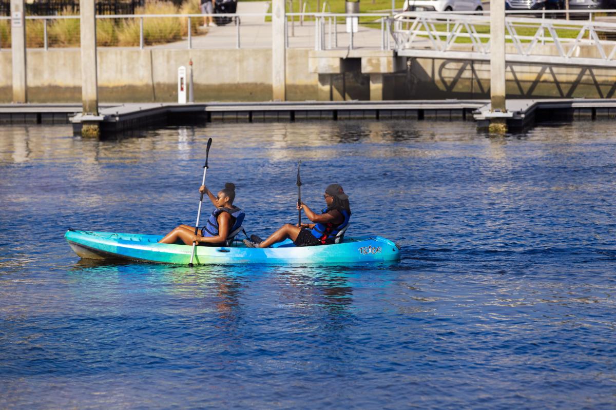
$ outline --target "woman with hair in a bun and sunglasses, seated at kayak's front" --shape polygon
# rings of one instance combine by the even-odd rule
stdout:
[[[241,227],[246,215],[240,208],[233,206],[233,199],[235,199],[234,183],[225,183],[225,187],[219,191],[217,196],[214,196],[205,185],[201,185],[199,192],[207,194],[209,200],[216,207],[209,216],[205,227],[201,228],[201,235],[195,235],[195,227],[180,225],[165,235],[158,243],[176,243],[179,239],[187,245],[197,242],[198,245],[219,246],[225,243],[230,233]]]

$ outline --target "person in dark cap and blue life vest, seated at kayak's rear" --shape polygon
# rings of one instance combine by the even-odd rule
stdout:
[[[308,219],[314,223],[302,223],[301,225],[285,223],[265,241],[253,242],[244,239],[244,243],[247,247],[268,247],[290,238],[296,246],[333,244],[336,234],[349,223],[351,217],[349,196],[344,193],[340,185],[332,183],[325,189],[323,198],[325,198],[327,207],[321,214],[315,214],[304,203],[298,204],[298,209],[303,209]]]

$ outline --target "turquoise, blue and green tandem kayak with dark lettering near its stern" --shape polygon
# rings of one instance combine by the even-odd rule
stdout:
[[[144,262],[188,265],[192,246],[158,243],[162,235],[139,235],[68,230],[64,235],[77,255],[84,259],[129,259]],[[267,248],[197,246],[193,263],[355,263],[400,260],[400,249],[381,236],[344,238],[341,243],[298,247],[290,239]]]

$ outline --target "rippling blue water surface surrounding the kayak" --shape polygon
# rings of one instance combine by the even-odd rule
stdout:
[[[614,409],[611,122],[170,127],[102,142],[0,129],[2,409]],[[171,267],[79,260],[69,227],[164,233],[235,182],[249,233],[331,182],[347,235],[402,261]],[[209,207],[205,208],[207,213]]]

